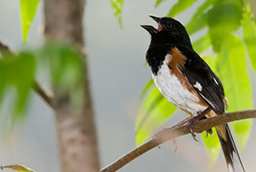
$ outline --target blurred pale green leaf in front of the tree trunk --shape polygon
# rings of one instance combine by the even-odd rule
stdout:
[[[47,43],[37,56],[50,66],[55,96],[70,100],[71,107],[78,110],[85,95],[85,69],[80,51],[71,45]]]

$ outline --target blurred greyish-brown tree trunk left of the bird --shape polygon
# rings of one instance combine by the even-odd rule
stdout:
[[[73,43],[83,52],[82,19],[85,0],[45,0],[44,4],[47,40]],[[86,53],[84,64],[87,64]],[[63,172],[100,171],[87,70],[85,80],[85,102],[81,111],[74,111],[71,108],[68,95],[59,96],[58,88],[54,90],[54,111]]]

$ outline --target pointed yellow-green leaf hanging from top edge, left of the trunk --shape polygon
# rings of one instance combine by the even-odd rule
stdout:
[[[20,0],[21,27],[23,32],[23,43],[26,42],[27,36],[34,19],[34,14],[40,0]]]

